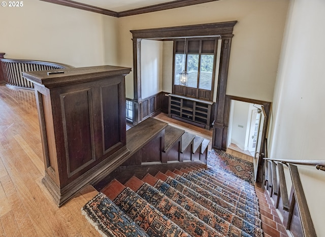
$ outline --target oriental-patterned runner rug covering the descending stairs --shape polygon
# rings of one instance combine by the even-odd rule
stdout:
[[[254,186],[215,165],[229,160],[247,171],[246,163],[223,155],[212,151],[207,167],[143,183],[136,192],[125,187],[114,200],[99,193],[82,213],[103,236],[263,237]]]

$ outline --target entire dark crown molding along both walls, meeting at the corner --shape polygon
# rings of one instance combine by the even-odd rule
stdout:
[[[133,16],[133,15],[139,15],[139,14],[150,13],[150,12],[163,11],[163,10],[168,10],[173,8],[187,7],[187,6],[203,4],[203,3],[210,3],[219,0],[177,0],[168,3],[156,4],[152,6],[131,9],[122,12],[115,12],[108,9],[99,8],[88,4],[78,3],[71,0],[40,0],[40,1],[58,4],[58,5],[71,7],[71,8],[76,8],[76,9],[81,9],[89,12],[95,12],[95,13],[108,15],[108,16],[125,17],[125,16]]]

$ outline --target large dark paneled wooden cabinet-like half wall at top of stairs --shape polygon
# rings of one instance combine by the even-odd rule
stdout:
[[[128,153],[124,77],[130,71],[95,66],[23,73],[35,86],[43,183],[58,206]]]

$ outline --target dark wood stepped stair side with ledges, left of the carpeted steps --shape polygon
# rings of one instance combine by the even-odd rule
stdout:
[[[92,184],[102,190],[113,179],[125,183],[132,176],[142,179],[147,173],[155,175],[193,164],[206,164],[209,140],[147,118],[126,131],[127,160],[108,176]]]

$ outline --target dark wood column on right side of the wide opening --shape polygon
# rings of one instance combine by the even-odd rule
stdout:
[[[228,133],[228,127],[225,124],[225,95],[232,38],[233,35],[222,36],[217,101],[213,122],[212,147],[223,151],[226,150],[226,138]]]

